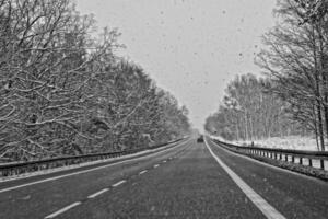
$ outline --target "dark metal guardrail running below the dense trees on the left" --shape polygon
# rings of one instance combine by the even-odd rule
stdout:
[[[36,172],[40,170],[60,168],[66,165],[85,163],[91,161],[97,160],[105,160],[109,158],[117,158],[121,155],[132,154],[144,150],[153,150],[164,146],[168,146],[171,143],[179,142],[185,138],[180,138],[177,140],[168,141],[165,143],[160,143],[153,147],[148,148],[138,148],[132,150],[125,150],[125,151],[117,151],[117,152],[104,152],[104,153],[91,153],[91,154],[82,154],[82,155],[67,155],[67,157],[58,157],[58,158],[50,158],[44,160],[36,160],[36,161],[27,161],[27,162],[12,162],[12,163],[4,163],[0,164],[0,177],[2,176],[11,176],[11,175],[19,175],[22,173],[27,172]]]

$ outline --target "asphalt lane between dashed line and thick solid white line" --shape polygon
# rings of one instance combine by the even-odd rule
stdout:
[[[58,218],[263,218],[203,143],[156,164]]]

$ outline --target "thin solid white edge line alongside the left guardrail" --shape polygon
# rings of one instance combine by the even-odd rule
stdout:
[[[179,146],[175,146],[173,148],[164,149],[162,151],[159,151],[159,152],[155,152],[155,153],[152,153],[152,154],[149,154],[149,155],[134,158],[134,159],[129,159],[129,160],[125,160],[125,161],[120,161],[120,162],[116,162],[116,163],[110,163],[110,164],[107,164],[107,165],[102,165],[102,166],[97,166],[97,168],[93,168],[93,169],[87,169],[87,170],[84,170],[84,171],[78,171],[78,172],[74,172],[74,173],[68,173],[68,174],[65,174],[65,175],[54,176],[54,177],[49,177],[49,178],[45,178],[45,180],[40,180],[40,181],[35,181],[35,182],[32,182],[32,183],[25,183],[25,184],[12,186],[12,187],[3,188],[3,189],[0,189],[0,193],[14,191],[14,189],[17,189],[17,188],[22,188],[22,187],[26,187],[26,186],[35,185],[35,184],[40,184],[40,183],[45,183],[45,182],[49,182],[49,181],[56,181],[56,180],[63,178],[63,177],[69,177],[69,176],[72,176],[72,175],[79,175],[79,174],[83,174],[83,173],[87,173],[87,172],[92,172],[92,171],[96,171],[96,170],[102,170],[102,169],[105,169],[105,168],[109,168],[109,166],[114,166],[114,165],[118,165],[118,164],[122,164],[122,163],[128,163],[128,162],[132,162],[132,161],[147,159],[147,158],[150,158],[150,157],[153,157],[153,155],[157,155],[157,154],[167,152],[168,150],[176,149],[176,147],[181,147],[183,145],[186,145],[189,141],[190,140],[188,140],[186,142],[183,142]]]

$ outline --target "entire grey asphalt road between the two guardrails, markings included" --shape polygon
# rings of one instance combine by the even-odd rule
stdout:
[[[1,219],[317,219],[328,218],[328,184],[189,140],[134,159],[1,183],[0,209]]]

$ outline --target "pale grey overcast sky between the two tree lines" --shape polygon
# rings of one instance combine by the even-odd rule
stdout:
[[[99,30],[118,27],[121,56],[190,111],[195,127],[215,112],[226,83],[259,73],[260,36],[274,25],[276,0],[75,0]]]

